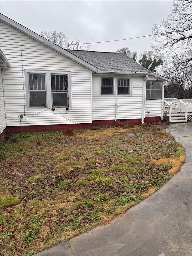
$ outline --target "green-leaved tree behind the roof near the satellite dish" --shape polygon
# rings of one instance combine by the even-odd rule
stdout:
[[[156,72],[156,68],[158,66],[163,66],[161,56],[155,51],[144,51],[144,53],[141,53],[139,63],[144,65],[146,68],[151,64],[149,69],[152,72]]]

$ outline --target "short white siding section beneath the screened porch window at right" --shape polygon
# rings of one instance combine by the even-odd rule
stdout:
[[[153,116],[161,116],[161,100],[146,100],[145,117]]]

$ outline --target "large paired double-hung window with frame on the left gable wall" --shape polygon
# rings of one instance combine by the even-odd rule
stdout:
[[[71,74],[25,70],[27,108],[71,109]]]

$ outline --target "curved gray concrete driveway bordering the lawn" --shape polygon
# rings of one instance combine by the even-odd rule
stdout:
[[[190,256],[191,122],[162,127],[186,148],[186,163],[161,189],[111,224],[36,256]]]

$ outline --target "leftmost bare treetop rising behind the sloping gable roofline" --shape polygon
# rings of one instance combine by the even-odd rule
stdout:
[[[64,48],[68,41],[66,35],[63,32],[57,32],[56,30],[41,31],[39,35],[62,48]]]

